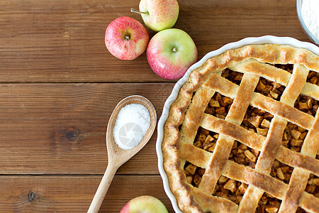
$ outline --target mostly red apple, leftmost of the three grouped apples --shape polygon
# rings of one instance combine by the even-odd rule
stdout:
[[[116,58],[133,60],[147,48],[150,37],[142,23],[127,16],[116,18],[106,28],[105,45]]]

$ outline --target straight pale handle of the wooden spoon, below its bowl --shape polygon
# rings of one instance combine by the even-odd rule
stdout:
[[[111,182],[116,173],[116,170],[118,170],[118,167],[112,165],[111,163],[108,164],[108,167],[106,168],[106,171],[103,175],[100,185],[98,189],[96,190],[94,198],[91,202],[89,210],[87,211],[88,213],[99,212],[101,204],[104,200],[106,192],[108,191],[108,187],[111,185]]]

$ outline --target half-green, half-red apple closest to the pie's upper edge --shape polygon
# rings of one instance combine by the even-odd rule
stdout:
[[[197,60],[197,48],[191,37],[179,29],[159,31],[146,50],[152,70],[165,79],[182,77]]]

